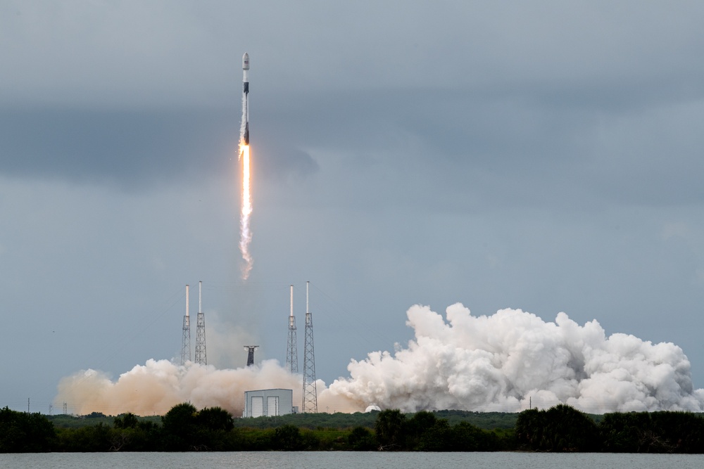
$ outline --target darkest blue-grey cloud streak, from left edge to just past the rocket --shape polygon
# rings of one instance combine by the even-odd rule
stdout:
[[[232,170],[238,130],[230,110],[3,110],[0,172],[123,188],[213,176]],[[264,176],[315,171],[284,142],[263,148]]]

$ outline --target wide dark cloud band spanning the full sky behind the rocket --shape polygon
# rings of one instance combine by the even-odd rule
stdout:
[[[257,176],[315,174],[320,162],[309,150],[318,148],[348,154],[352,170],[364,171],[375,158],[401,173],[421,165],[439,195],[451,182],[455,190],[494,191],[492,203],[499,204],[574,208],[589,205],[590,191],[596,200],[622,203],[700,200],[704,189],[689,170],[700,165],[699,143],[679,122],[697,122],[702,111],[678,108],[681,96],[670,96],[677,86],[372,88],[295,96],[265,89],[251,116]],[[239,113],[235,106],[6,109],[0,123],[3,174],[129,188],[229,171]]]

